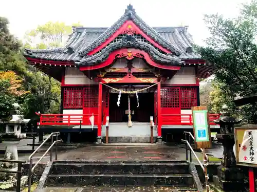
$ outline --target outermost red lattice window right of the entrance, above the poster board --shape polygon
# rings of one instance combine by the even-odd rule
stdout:
[[[197,106],[197,91],[196,88],[181,88],[181,108],[191,108]]]

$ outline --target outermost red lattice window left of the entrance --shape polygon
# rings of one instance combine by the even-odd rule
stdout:
[[[83,107],[83,88],[65,88],[63,93],[64,108],[82,108]]]

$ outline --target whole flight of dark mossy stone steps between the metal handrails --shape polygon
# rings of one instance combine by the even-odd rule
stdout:
[[[53,162],[45,187],[175,186],[194,191],[187,162]]]

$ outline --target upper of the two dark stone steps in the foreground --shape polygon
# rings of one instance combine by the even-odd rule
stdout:
[[[186,162],[56,162],[50,175],[188,174]]]

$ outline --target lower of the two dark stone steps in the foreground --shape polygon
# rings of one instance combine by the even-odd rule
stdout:
[[[142,175],[50,175],[46,186],[188,186],[194,185],[190,174]]]

